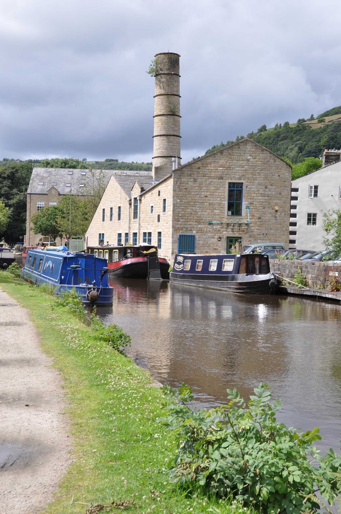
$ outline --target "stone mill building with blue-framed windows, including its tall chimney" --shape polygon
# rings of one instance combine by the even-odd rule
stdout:
[[[153,171],[113,175],[86,244],[153,244],[177,252],[289,243],[291,168],[250,139],[181,166],[177,53],[155,56]]]

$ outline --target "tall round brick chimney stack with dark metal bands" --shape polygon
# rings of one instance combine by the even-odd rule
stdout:
[[[180,166],[179,54],[155,56],[153,177],[160,180]]]

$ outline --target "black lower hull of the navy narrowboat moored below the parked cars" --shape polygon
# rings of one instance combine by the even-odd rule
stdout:
[[[191,277],[181,273],[173,272],[169,278],[169,282],[175,284],[183,284],[196,287],[204,287],[205,289],[218,289],[226,292],[249,293],[256,295],[269,295],[277,288],[277,279],[274,273],[257,276],[237,276],[230,275],[219,280],[218,277]]]

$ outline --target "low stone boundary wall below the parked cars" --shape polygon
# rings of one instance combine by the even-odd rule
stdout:
[[[298,269],[306,277],[309,287],[328,289],[332,277],[336,276],[341,280],[341,261],[333,263],[270,259],[270,270],[281,277],[293,280]]]

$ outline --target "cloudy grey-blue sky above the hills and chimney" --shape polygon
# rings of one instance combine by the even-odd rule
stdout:
[[[341,105],[339,0],[1,0],[0,159],[151,162],[156,53],[182,163]]]

